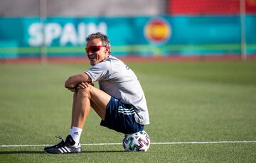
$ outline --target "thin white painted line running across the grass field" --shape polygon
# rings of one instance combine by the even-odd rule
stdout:
[[[151,142],[151,145],[186,145],[186,144],[224,144],[224,143],[256,143],[252,141],[220,141],[220,142]],[[81,144],[82,146],[95,146],[95,145],[122,145],[122,143],[89,143]],[[0,147],[45,147],[51,145],[0,145]]]

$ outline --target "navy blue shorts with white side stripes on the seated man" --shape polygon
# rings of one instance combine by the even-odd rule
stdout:
[[[119,133],[129,134],[144,130],[144,125],[135,122],[135,111],[131,105],[124,104],[111,97],[107,104],[105,120],[100,125]]]

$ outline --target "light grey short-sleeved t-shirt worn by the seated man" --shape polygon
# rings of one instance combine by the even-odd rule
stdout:
[[[124,62],[110,55],[85,72],[92,82],[99,81],[100,90],[122,103],[134,106],[135,120],[141,125],[149,124],[149,112],[142,86]]]

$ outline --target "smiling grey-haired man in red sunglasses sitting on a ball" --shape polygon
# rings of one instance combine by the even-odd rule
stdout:
[[[149,113],[142,86],[127,65],[111,55],[110,40],[102,33],[86,38],[85,50],[92,67],[69,77],[65,88],[73,91],[70,134],[58,145],[45,147],[48,153],[79,153],[80,135],[90,108],[102,118],[100,125],[129,134],[149,125]],[[100,89],[93,86],[98,81]]]

